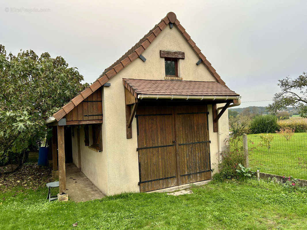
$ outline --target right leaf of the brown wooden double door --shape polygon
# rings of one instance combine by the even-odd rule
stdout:
[[[211,179],[207,106],[175,107],[180,184]]]

